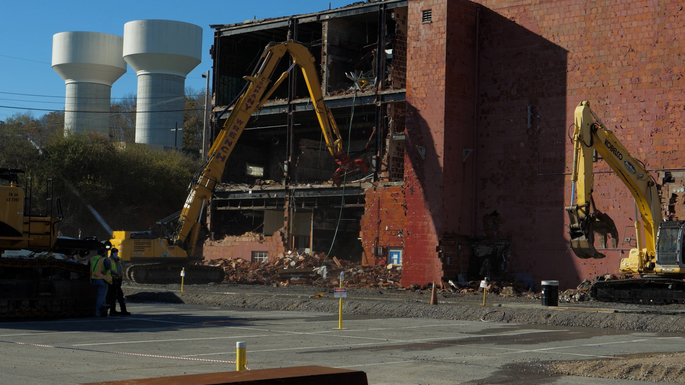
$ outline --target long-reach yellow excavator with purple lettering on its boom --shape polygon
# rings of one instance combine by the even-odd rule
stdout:
[[[292,66],[282,73],[266,92],[276,66],[286,53],[290,53],[292,56]],[[314,62],[316,60],[307,47],[297,42],[271,42],[266,46],[255,71],[252,75],[243,78],[247,80],[245,88],[236,100],[224,110],[225,112],[234,106],[223,125],[223,129],[216,136],[216,140],[209,151],[208,160],[195,173],[190,183],[188,198],[183,210],[158,222],[158,232],[114,232],[111,240],[112,245],[119,249],[119,256],[125,262],[131,263],[127,269],[129,279],[142,284],[177,283],[181,269],[185,268],[185,282],[188,284],[221,282],[223,280],[224,275],[221,268],[189,263],[192,261],[192,255],[199,239],[203,212],[216,185],[221,181],[226,160],[236,146],[236,142],[238,142],[242,130],[245,129],[250,116],[262,108],[262,105],[271,97],[295,66],[299,66],[304,75],[326,145],[338,164],[338,169],[333,175],[334,183],[339,186],[340,179],[345,173],[356,170],[366,173],[365,160],[353,160],[343,151],[343,140],[338,131],[338,126],[333,114],[323,102]]]

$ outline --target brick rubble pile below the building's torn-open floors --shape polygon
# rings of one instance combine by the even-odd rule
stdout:
[[[360,262],[326,258],[325,254],[281,253],[268,262],[249,262],[242,258],[219,258],[203,264],[221,266],[225,282],[287,286],[301,284],[334,288],[345,274],[347,288],[400,288],[398,266],[362,266]]]

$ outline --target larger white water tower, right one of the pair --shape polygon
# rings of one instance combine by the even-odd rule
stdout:
[[[124,25],[123,58],[138,74],[137,143],[183,147],[186,75],[201,57],[198,25],[171,20]]]

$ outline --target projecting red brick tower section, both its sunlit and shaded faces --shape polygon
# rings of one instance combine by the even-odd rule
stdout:
[[[422,23],[423,10],[432,23]],[[473,3],[409,1],[403,286],[439,282],[440,235],[471,233],[472,164],[461,154],[473,148],[474,33]]]

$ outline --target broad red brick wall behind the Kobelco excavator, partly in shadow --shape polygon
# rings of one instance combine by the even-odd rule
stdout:
[[[480,0],[477,229],[497,210],[499,234],[512,240],[512,273],[560,280],[616,273],[619,251],[580,260],[569,249],[569,175],[537,175],[536,130],[526,105],[540,114],[539,173],[567,173],[572,153],[566,129],[589,100],[608,128],[648,169],[682,167],[685,79],[678,41],[681,4],[664,1]],[[608,171],[603,160],[597,171]],[[656,177],[656,173],[653,173]],[[595,202],[619,236],[634,221],[630,192],[613,173],[595,175]],[[626,236],[634,237],[628,228]],[[619,244],[620,244],[619,239]],[[627,253],[623,254],[623,258]]]

